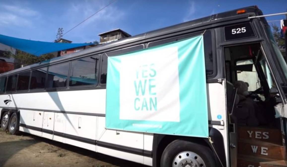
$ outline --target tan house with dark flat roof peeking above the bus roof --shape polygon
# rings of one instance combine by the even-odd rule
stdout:
[[[101,34],[98,34],[100,36],[100,44],[105,44],[113,41],[117,41],[123,38],[130,37],[131,35],[127,32],[124,32],[121,29],[116,29],[108,32],[104,32]]]

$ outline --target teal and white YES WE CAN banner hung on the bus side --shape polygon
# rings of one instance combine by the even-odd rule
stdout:
[[[203,36],[108,57],[106,128],[208,137]]]

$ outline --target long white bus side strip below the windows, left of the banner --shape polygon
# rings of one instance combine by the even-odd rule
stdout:
[[[0,100],[4,101],[6,97],[0,96]],[[9,107],[105,114],[105,100],[106,89],[22,93],[11,95]]]

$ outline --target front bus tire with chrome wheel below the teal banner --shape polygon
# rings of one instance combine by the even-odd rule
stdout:
[[[184,140],[174,140],[164,149],[160,166],[216,167],[216,162],[213,152],[207,146]]]

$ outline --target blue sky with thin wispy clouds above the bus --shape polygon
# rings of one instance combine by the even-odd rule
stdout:
[[[64,33],[111,0],[0,0],[0,34],[53,42],[57,29]],[[215,13],[257,5],[264,14],[287,10],[287,0],[117,0],[63,38],[73,43],[99,41],[99,33],[121,28],[137,35]],[[267,17],[283,19],[284,15]],[[272,22],[277,23],[279,22]]]

